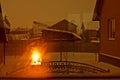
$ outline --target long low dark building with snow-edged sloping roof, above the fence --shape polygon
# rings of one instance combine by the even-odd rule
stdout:
[[[45,40],[81,40],[75,33],[56,29],[42,30],[42,37]]]

